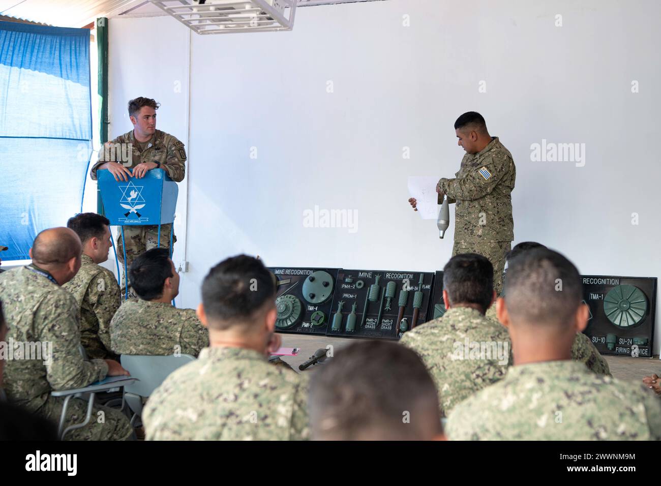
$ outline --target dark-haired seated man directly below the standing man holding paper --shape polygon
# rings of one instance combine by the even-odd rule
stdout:
[[[490,261],[475,253],[455,255],[443,269],[447,312],[399,340],[418,353],[434,378],[442,417],[505,376],[510,338],[500,323],[485,317],[495,295]]]

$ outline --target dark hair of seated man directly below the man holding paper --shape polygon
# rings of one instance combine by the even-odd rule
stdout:
[[[443,268],[443,288],[450,304],[479,304],[486,312],[493,300],[494,267],[477,253],[460,253]]]

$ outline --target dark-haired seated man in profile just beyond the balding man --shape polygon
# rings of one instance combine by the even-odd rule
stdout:
[[[76,298],[81,329],[81,344],[88,358],[116,359],[110,351],[110,319],[120,307],[120,286],[115,276],[99,263],[108,260],[110,221],[96,213],[69,218],[83,243],[83,257],[78,273],[62,286]]]

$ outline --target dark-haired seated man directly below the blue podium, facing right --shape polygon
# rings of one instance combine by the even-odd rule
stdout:
[[[209,345],[209,333],[193,309],[177,309],[179,274],[167,248],[145,251],[131,264],[131,286],[139,299],[124,302],[110,323],[118,354],[191,354]]]

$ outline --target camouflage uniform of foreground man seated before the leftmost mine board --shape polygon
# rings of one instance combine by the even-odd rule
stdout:
[[[254,350],[205,348],[152,393],[142,418],[147,440],[303,440],[307,380]]]

